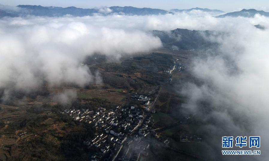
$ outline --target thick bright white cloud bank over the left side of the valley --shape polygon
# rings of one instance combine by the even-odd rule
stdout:
[[[75,83],[83,86],[93,75],[81,62],[95,53],[120,58],[161,47],[143,31],[97,27],[77,18],[7,18],[0,20],[0,88],[31,90]]]

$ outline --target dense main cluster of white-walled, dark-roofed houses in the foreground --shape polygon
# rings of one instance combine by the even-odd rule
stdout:
[[[99,160],[102,154],[108,151],[117,153],[121,144],[126,141],[128,135],[138,129],[140,123],[146,117],[147,111],[138,108],[137,105],[131,107],[114,107],[112,109],[98,108],[96,111],[90,110],[64,110],[77,121],[85,121],[96,127],[93,137],[84,141],[88,147],[95,146],[102,152],[101,156],[92,156],[92,160]],[[139,130],[139,134],[146,136],[146,130],[150,123],[151,116]]]

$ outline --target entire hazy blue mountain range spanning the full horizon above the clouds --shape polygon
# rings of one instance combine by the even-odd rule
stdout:
[[[153,9],[153,8],[137,8],[132,6],[112,6],[112,7],[105,7],[105,8],[90,8],[90,9],[83,9],[77,7],[43,7],[40,5],[18,5],[16,10],[5,10],[4,5],[0,6],[0,18],[5,16],[16,17],[16,16],[27,16],[27,15],[34,15],[34,16],[64,16],[64,15],[72,15],[72,16],[93,16],[94,14],[100,15],[108,15],[108,14],[127,14],[127,15],[164,15],[164,14],[173,14],[176,12],[190,12],[193,10],[200,10],[203,12],[214,13],[214,14],[221,14],[225,13],[222,10],[211,10],[208,8],[191,8],[187,10],[179,10],[179,9],[172,9],[172,10],[161,10],[161,9]],[[265,12],[263,10],[255,10],[255,9],[243,9],[241,11],[225,13],[217,18],[223,18],[226,16],[231,17],[253,17],[255,14],[260,14],[262,16],[269,16],[269,12]]]

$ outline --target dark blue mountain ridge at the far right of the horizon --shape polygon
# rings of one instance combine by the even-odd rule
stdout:
[[[220,16],[217,16],[218,18],[223,18],[226,16],[230,16],[230,17],[238,17],[238,16],[242,16],[242,17],[253,17],[256,14],[260,14],[262,16],[269,16],[269,12],[265,12],[263,10],[255,10],[255,9],[243,9],[241,11],[236,11],[236,12],[230,12],[230,13],[226,13]]]

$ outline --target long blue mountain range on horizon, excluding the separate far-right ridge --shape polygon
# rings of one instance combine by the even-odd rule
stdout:
[[[173,9],[170,11],[167,10],[161,10],[161,9],[153,9],[153,8],[137,8],[132,6],[125,6],[125,7],[119,7],[119,6],[112,6],[108,8],[91,8],[91,9],[83,9],[83,8],[77,8],[77,7],[44,7],[40,5],[18,5],[17,8],[19,8],[19,11],[5,11],[7,13],[0,13],[1,17],[9,16],[8,13],[13,14],[12,16],[26,16],[26,15],[34,15],[34,16],[64,16],[64,15],[73,15],[73,16],[92,16],[94,14],[127,14],[127,15],[164,15],[164,14],[173,14],[175,12],[189,12],[192,10],[202,10],[204,12],[215,12],[215,13],[224,13],[224,11],[221,10],[210,10],[208,8],[191,8],[188,10],[179,10],[179,9]],[[3,9],[2,9],[3,10]],[[4,10],[3,10],[4,11]]]

